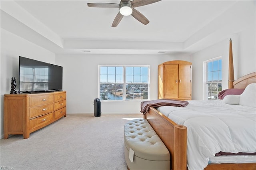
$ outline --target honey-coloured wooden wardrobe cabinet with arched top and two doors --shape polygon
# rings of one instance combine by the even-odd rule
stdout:
[[[191,100],[192,63],[167,61],[158,65],[158,99]]]

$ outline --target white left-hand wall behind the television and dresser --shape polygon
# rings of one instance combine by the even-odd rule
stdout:
[[[44,61],[55,64],[55,54],[38,46],[34,43],[28,42],[1,28],[1,121],[0,132],[3,137],[4,127],[4,94],[10,94],[11,79],[16,77],[17,82],[19,78],[19,56]],[[16,90],[18,90],[18,83]]]

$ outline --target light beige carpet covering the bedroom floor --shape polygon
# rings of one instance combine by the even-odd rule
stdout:
[[[124,124],[142,114],[68,114],[30,134],[1,139],[0,166],[14,170],[126,170]]]

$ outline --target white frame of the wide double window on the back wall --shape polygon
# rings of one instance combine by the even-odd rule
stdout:
[[[115,84],[122,84],[123,85],[123,92],[126,92],[126,67],[148,67],[148,99],[126,99],[126,95],[123,95],[123,99],[121,100],[101,100],[104,102],[111,102],[111,101],[147,101],[150,100],[150,65],[98,65],[98,98],[100,99],[100,87],[101,87],[101,83],[100,83],[100,68],[101,67],[123,67],[123,83],[115,83]],[[142,74],[140,74],[142,75]],[[108,83],[106,83],[108,84]],[[142,84],[142,83],[132,83],[132,84]]]

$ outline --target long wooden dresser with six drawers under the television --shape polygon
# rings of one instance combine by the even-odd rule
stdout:
[[[4,139],[31,132],[66,117],[66,91],[4,95]]]

